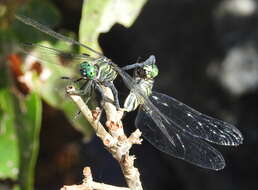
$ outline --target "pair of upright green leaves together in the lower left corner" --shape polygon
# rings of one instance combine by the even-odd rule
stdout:
[[[18,179],[21,189],[33,189],[41,114],[35,93],[19,100],[9,90],[0,90],[0,178]]]

